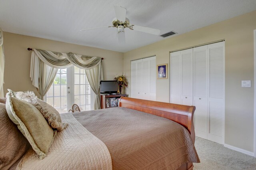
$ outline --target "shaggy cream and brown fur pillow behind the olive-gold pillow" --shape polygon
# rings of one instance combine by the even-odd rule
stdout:
[[[50,127],[57,129],[58,131],[63,130],[68,126],[68,123],[60,123],[58,122],[58,117],[56,113],[50,112],[47,109],[45,109],[38,101],[37,96],[34,92],[28,91],[26,93],[19,91],[16,93],[16,98],[20,100],[27,101],[28,103],[31,103],[40,113],[44,116],[44,119],[48,122]]]

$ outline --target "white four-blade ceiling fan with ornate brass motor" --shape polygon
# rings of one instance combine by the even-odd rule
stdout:
[[[112,20],[113,26],[106,26],[106,27],[116,27],[117,28],[117,37],[119,43],[125,43],[125,36],[124,36],[124,28],[130,28],[130,30],[136,30],[140,32],[146,32],[148,34],[159,35],[160,30],[136,25],[130,25],[130,21],[126,18],[126,9],[121,6],[114,6],[116,12],[116,18]],[[106,27],[98,27],[98,28],[106,28]],[[93,30],[98,28],[90,28],[80,31],[86,30]]]

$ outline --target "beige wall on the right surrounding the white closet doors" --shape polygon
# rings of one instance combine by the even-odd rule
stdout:
[[[225,144],[253,152],[254,128],[254,48],[253,30],[256,11],[181,34],[124,53],[124,74],[130,82],[130,61],[156,55],[156,64],[170,63],[169,51],[225,40],[226,113]],[[169,67],[170,68],[170,67]],[[168,79],[157,79],[157,101],[170,101],[170,69]],[[252,87],[242,88],[242,80]],[[130,89],[126,90],[130,94]]]

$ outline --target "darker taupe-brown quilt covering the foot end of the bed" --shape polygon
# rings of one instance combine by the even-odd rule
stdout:
[[[186,162],[200,162],[189,132],[169,119],[122,107],[74,117],[106,144],[114,170],[175,170]]]

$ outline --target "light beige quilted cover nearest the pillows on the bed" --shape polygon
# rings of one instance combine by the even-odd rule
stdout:
[[[61,117],[69,125],[57,132],[46,157],[40,160],[30,149],[16,169],[111,170],[111,157],[106,145],[84,128],[72,113],[61,114]]]

